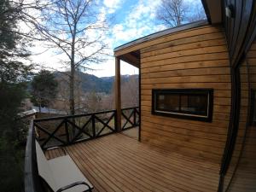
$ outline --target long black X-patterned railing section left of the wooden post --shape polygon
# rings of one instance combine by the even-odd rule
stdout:
[[[102,137],[116,130],[116,110],[72,116],[34,119],[34,129],[42,148],[69,145]]]

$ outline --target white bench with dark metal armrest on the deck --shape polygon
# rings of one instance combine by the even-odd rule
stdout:
[[[38,174],[55,192],[84,192],[93,189],[69,155],[47,160],[36,141]]]

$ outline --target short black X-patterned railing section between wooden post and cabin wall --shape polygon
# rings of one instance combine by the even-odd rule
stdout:
[[[127,130],[139,125],[139,108],[122,108],[121,126],[122,130]]]

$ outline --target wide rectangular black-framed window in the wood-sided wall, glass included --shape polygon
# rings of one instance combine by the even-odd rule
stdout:
[[[152,90],[152,113],[212,121],[212,89]]]

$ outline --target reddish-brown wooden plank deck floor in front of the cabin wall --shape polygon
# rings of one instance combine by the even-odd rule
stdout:
[[[108,148],[106,148],[106,143],[108,143]],[[218,166],[210,163],[209,166],[203,166],[200,161],[191,161],[192,159],[186,161],[186,157],[178,159],[176,154],[166,156],[148,147],[143,143],[137,143],[136,140],[127,141],[124,136],[120,138],[110,136],[84,143],[79,149],[81,153],[79,155],[87,157],[95,154],[92,155],[94,160],[90,161],[90,166],[94,164],[94,167],[98,167],[101,171],[105,169],[109,177],[120,177],[116,185],[122,183],[126,188],[129,186],[135,191],[136,189],[138,191],[187,191],[190,189],[214,191],[218,186]],[[87,164],[84,161],[88,160],[80,158],[80,161]],[[116,165],[116,161],[119,161],[119,165]],[[195,165],[197,168],[193,168]],[[116,173],[113,170],[116,170]],[[157,179],[159,177],[161,179]]]

